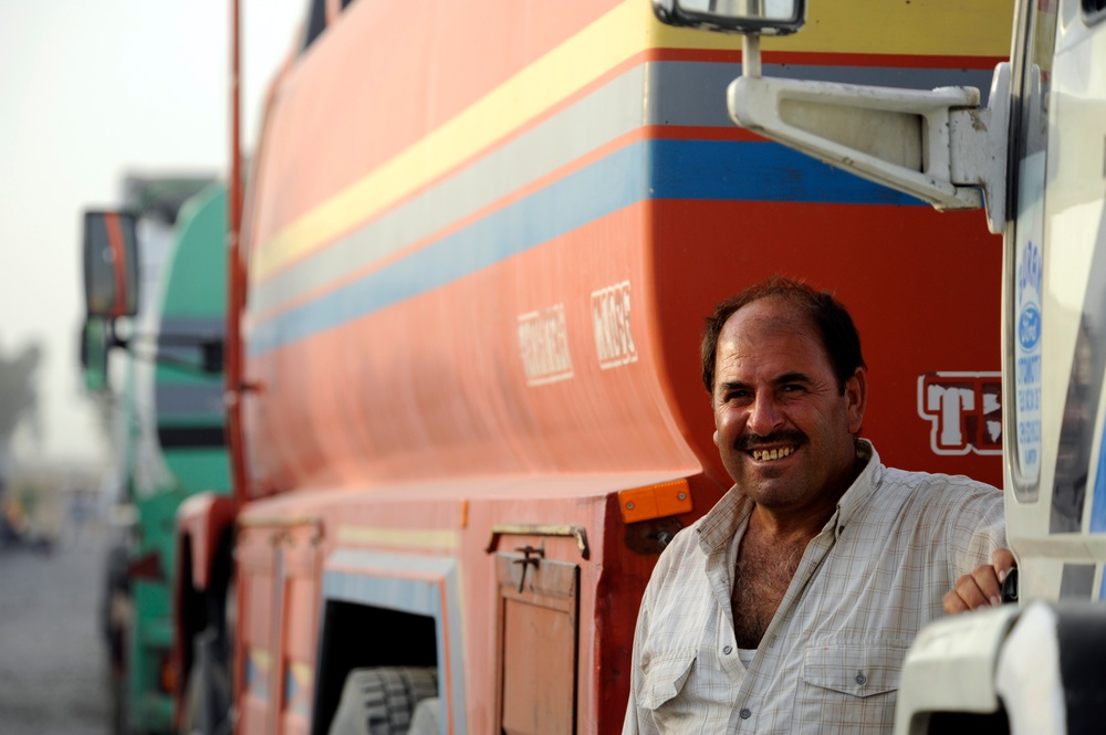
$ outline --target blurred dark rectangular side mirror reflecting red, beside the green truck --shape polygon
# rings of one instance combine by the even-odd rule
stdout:
[[[138,313],[136,222],[128,212],[84,213],[84,295],[90,316]]]

